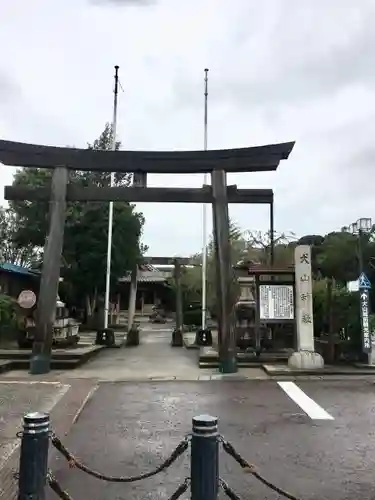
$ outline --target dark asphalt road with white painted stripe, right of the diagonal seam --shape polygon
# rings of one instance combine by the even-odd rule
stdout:
[[[359,380],[103,383],[66,443],[95,469],[131,475],[160,463],[191,418],[208,412],[267,478],[301,499],[365,500],[375,496],[374,405],[374,384]],[[53,467],[74,500],[166,499],[189,474],[189,458],[135,485],[99,482],[62,459]],[[241,498],[279,498],[224,455],[221,475]]]

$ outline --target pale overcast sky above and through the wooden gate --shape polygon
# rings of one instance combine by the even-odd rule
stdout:
[[[86,147],[112,119],[129,150],[296,141],[277,172],[231,174],[272,188],[275,229],[298,236],[375,219],[374,0],[0,0],[0,137]],[[14,168],[0,164],[3,186]],[[202,185],[149,175],[149,186]],[[202,206],[138,204],[148,255],[202,247]],[[212,214],[207,210],[209,231]],[[265,205],[232,205],[244,231],[268,230]]]

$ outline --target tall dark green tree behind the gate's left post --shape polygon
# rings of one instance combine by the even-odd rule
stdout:
[[[112,130],[106,124],[100,137],[90,149],[109,150],[112,146]],[[117,148],[120,143],[117,144]],[[14,184],[45,186],[50,182],[51,171],[47,169],[20,169],[14,178]],[[131,174],[115,174],[115,185],[127,186]],[[110,174],[107,172],[71,172],[70,183],[81,186],[108,186]],[[35,246],[44,246],[48,226],[48,204],[40,202],[12,202],[12,211],[18,219],[15,239],[18,244],[30,242]],[[144,217],[135,211],[129,203],[116,202],[113,205],[113,235],[111,280],[118,278],[132,269],[145,251],[140,243]],[[105,289],[105,271],[108,238],[108,203],[68,203],[62,273],[66,281],[65,288],[70,297],[85,298],[88,314],[91,314],[96,298]]]

